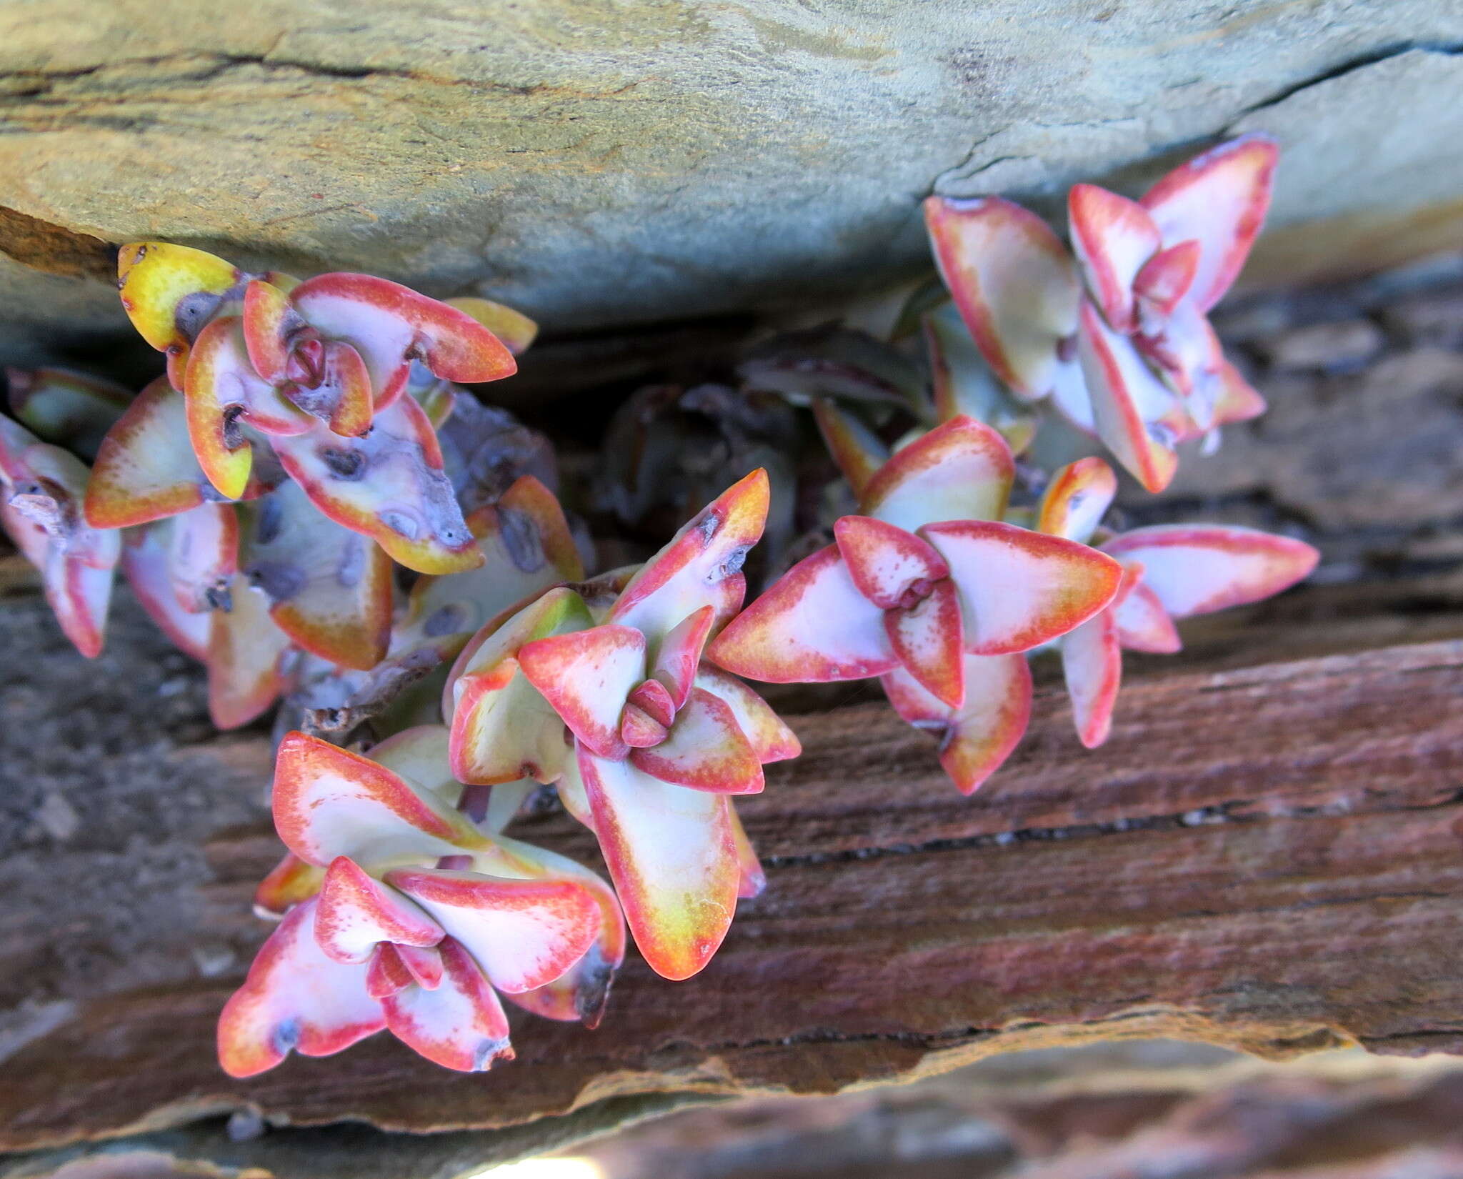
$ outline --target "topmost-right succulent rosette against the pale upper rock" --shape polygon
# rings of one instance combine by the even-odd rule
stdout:
[[[1165,176],[1140,200],[1078,184],[1072,252],[1002,197],[929,197],[935,260],[976,347],[1017,399],[1097,434],[1150,491],[1175,445],[1264,411],[1206,317],[1270,205],[1276,145],[1246,135]]]

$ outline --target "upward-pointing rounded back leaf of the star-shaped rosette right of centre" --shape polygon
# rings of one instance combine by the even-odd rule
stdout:
[[[910,532],[942,519],[999,519],[1014,472],[1001,434],[954,417],[895,451],[869,480],[859,508]]]

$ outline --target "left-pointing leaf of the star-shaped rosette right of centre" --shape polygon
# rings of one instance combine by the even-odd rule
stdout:
[[[898,664],[884,611],[859,592],[837,544],[783,573],[711,641],[707,657],[768,683],[857,680]]]

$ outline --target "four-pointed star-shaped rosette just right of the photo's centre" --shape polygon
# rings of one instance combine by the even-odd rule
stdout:
[[[989,426],[930,430],[860,480],[860,515],[742,611],[710,658],[772,683],[878,676],[920,727],[938,707],[941,761],[970,793],[1026,727],[1023,652],[1081,626],[1122,581],[1086,544],[1004,522],[1012,477]]]

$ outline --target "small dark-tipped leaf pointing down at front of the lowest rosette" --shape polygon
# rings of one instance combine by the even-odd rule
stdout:
[[[439,951],[442,983],[408,986],[380,1001],[391,1034],[432,1063],[458,1072],[483,1072],[512,1061],[508,1017],[467,949],[448,938]]]

